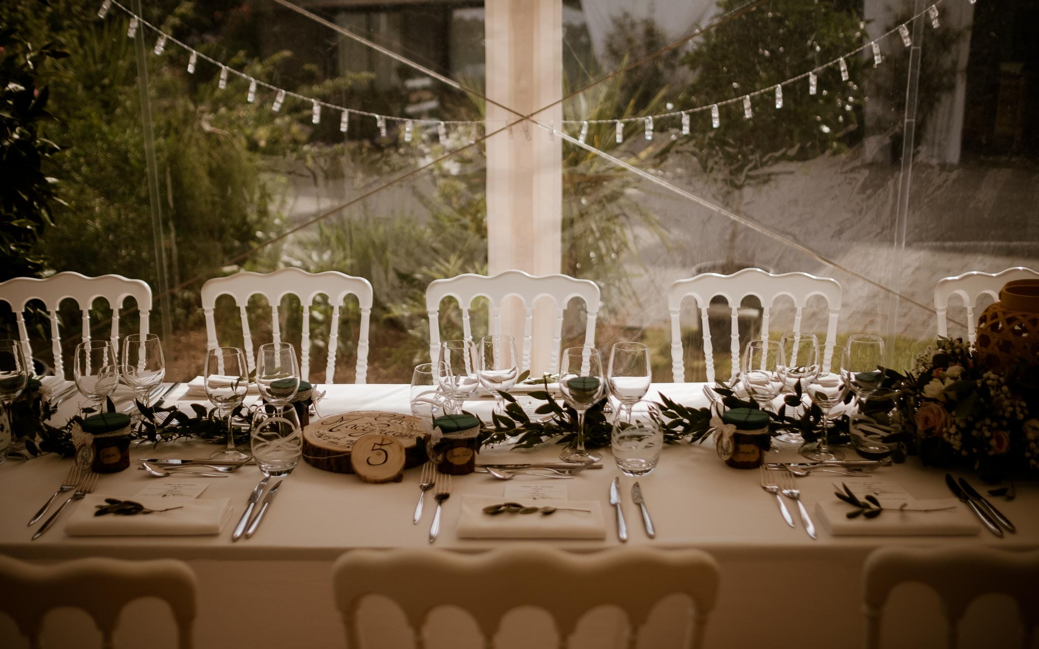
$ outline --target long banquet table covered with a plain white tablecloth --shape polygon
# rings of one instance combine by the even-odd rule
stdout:
[[[701,387],[700,383],[660,383],[652,386],[648,398],[661,393],[686,405],[702,406],[705,398]],[[167,403],[181,397],[185,389],[181,386],[171,393]],[[319,404],[322,414],[359,409],[408,410],[407,385],[330,385],[324,389],[327,396]],[[491,403],[474,401],[467,409],[481,413]],[[199,442],[167,442],[157,448],[143,444],[132,451],[132,457],[204,457],[212,448]],[[485,449],[479,461],[549,460],[555,459],[558,452],[555,444],[537,450]],[[789,453],[783,459],[794,460],[796,453]],[[405,471],[402,483],[374,485],[355,476],[321,471],[305,463],[286,480],[263,525],[249,540],[232,543],[230,529],[219,536],[204,537],[69,537],[59,523],[32,542],[29,539],[34,528],[27,528],[26,521],[60,484],[69,462],[49,455],[25,462],[11,460],[0,467],[0,493],[4,494],[0,498],[0,521],[3,521],[0,553],[41,562],[89,556],[186,560],[199,578],[195,639],[201,647],[247,644],[343,647],[345,641],[331,603],[330,563],[351,548],[428,545],[432,509],[428,494],[423,520],[417,525],[411,523],[419,494],[418,469]],[[604,462],[602,470],[586,470],[574,480],[554,482],[566,486],[569,499],[602,501],[608,515],[607,538],[528,543],[551,544],[574,551],[620,545],[608,506],[610,481],[620,474],[608,454]],[[878,477],[898,482],[916,498],[949,497],[943,474],[922,467],[913,459],[877,471]],[[212,480],[201,497],[230,497],[235,508],[232,520],[237,520],[258,477],[258,469],[245,467],[227,479]],[[144,471],[131,467],[103,476],[97,491],[132,494],[153,480]],[[798,480],[809,512],[815,514],[819,499],[832,497],[833,483],[840,480],[825,475]],[[696,547],[710,552],[721,564],[721,595],[708,629],[709,647],[860,646],[861,564],[879,546],[980,544],[1008,550],[1039,548],[1036,516],[1039,489],[1034,483],[1018,484],[1015,501],[1000,502],[1018,528],[1016,535],[1004,539],[984,531],[969,537],[832,537],[821,530],[819,540],[811,540],[800,524],[791,529],[781,520],[775,499],[758,486],[756,470],[726,467],[710,440],[703,444],[667,447],[658,468],[640,479],[657,525],[656,539],[644,534],[640,515],[628,496],[633,482],[634,479],[621,476],[623,510],[631,534],[629,546]],[[445,504],[443,529],[435,547],[481,551],[505,543],[459,539],[455,534],[460,499],[457,496],[462,493],[500,496],[504,484],[485,474],[456,477],[452,497]],[[792,511],[796,519],[796,509]],[[818,517],[817,526],[821,528]],[[618,575],[620,580],[634,578],[638,576]],[[545,587],[551,588],[551,584]],[[141,621],[146,617],[148,625],[153,624],[155,616],[144,613],[156,605],[149,601],[131,605],[124,616],[125,633],[146,634],[150,646],[171,647],[171,622],[168,627],[162,626],[165,622],[154,627]],[[961,646],[997,646],[993,643],[1001,638],[1014,642],[1020,627],[1012,607],[995,596],[986,596],[976,605],[978,609],[971,615],[984,623],[965,625]],[[672,612],[677,610],[675,602],[665,602],[662,611],[667,612],[667,606],[672,606]],[[74,619],[52,625],[58,628],[49,632],[55,633],[55,638],[72,636],[80,640],[94,632],[84,617],[70,615]],[[937,599],[923,587],[907,586],[897,591],[887,615],[885,646],[943,646],[943,636],[937,632],[941,624]],[[168,616],[159,613],[158,617]],[[587,632],[587,646],[619,643],[622,634],[616,633],[620,625],[617,617],[608,612],[592,614],[587,628],[582,627],[582,632]],[[394,624],[387,628],[389,633],[397,632]],[[681,633],[668,632],[665,627],[661,634],[644,638],[642,646],[678,646],[680,637]],[[10,621],[3,616],[0,616],[0,639],[10,641],[0,642],[2,646],[18,647],[24,642],[17,638]],[[609,642],[604,644],[604,639]],[[86,645],[88,641],[83,642]],[[409,639],[400,636],[397,641],[387,642],[385,646],[400,646],[399,643],[408,646]]]

